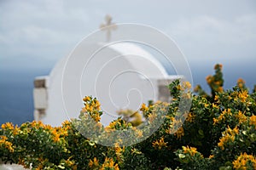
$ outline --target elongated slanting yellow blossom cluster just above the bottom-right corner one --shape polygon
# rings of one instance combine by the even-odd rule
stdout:
[[[234,129],[231,129],[229,126],[228,128],[222,133],[223,137],[219,139],[218,147],[221,148],[221,150],[224,150],[224,145],[229,142],[234,142],[236,134],[239,133],[238,127],[235,127]]]

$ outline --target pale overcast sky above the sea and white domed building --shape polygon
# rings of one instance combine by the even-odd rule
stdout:
[[[0,0],[0,66],[52,66],[95,31],[106,14],[116,23],[139,23],[164,31],[191,65],[256,63],[253,0]]]

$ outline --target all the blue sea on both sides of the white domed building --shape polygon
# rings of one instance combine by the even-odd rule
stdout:
[[[213,74],[213,65],[189,63],[194,86],[201,86],[209,92],[205,77]],[[0,124],[13,122],[20,125],[33,120],[32,89],[34,77],[49,75],[50,69],[0,69]],[[242,77],[247,87],[256,84],[254,63],[224,64],[224,88],[232,88]]]

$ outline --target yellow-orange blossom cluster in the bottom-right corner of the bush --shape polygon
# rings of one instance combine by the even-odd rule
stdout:
[[[248,163],[253,164],[253,169],[256,169],[256,157],[247,155],[247,153],[241,153],[235,161],[232,162],[234,169],[247,170],[251,169],[248,167]]]

